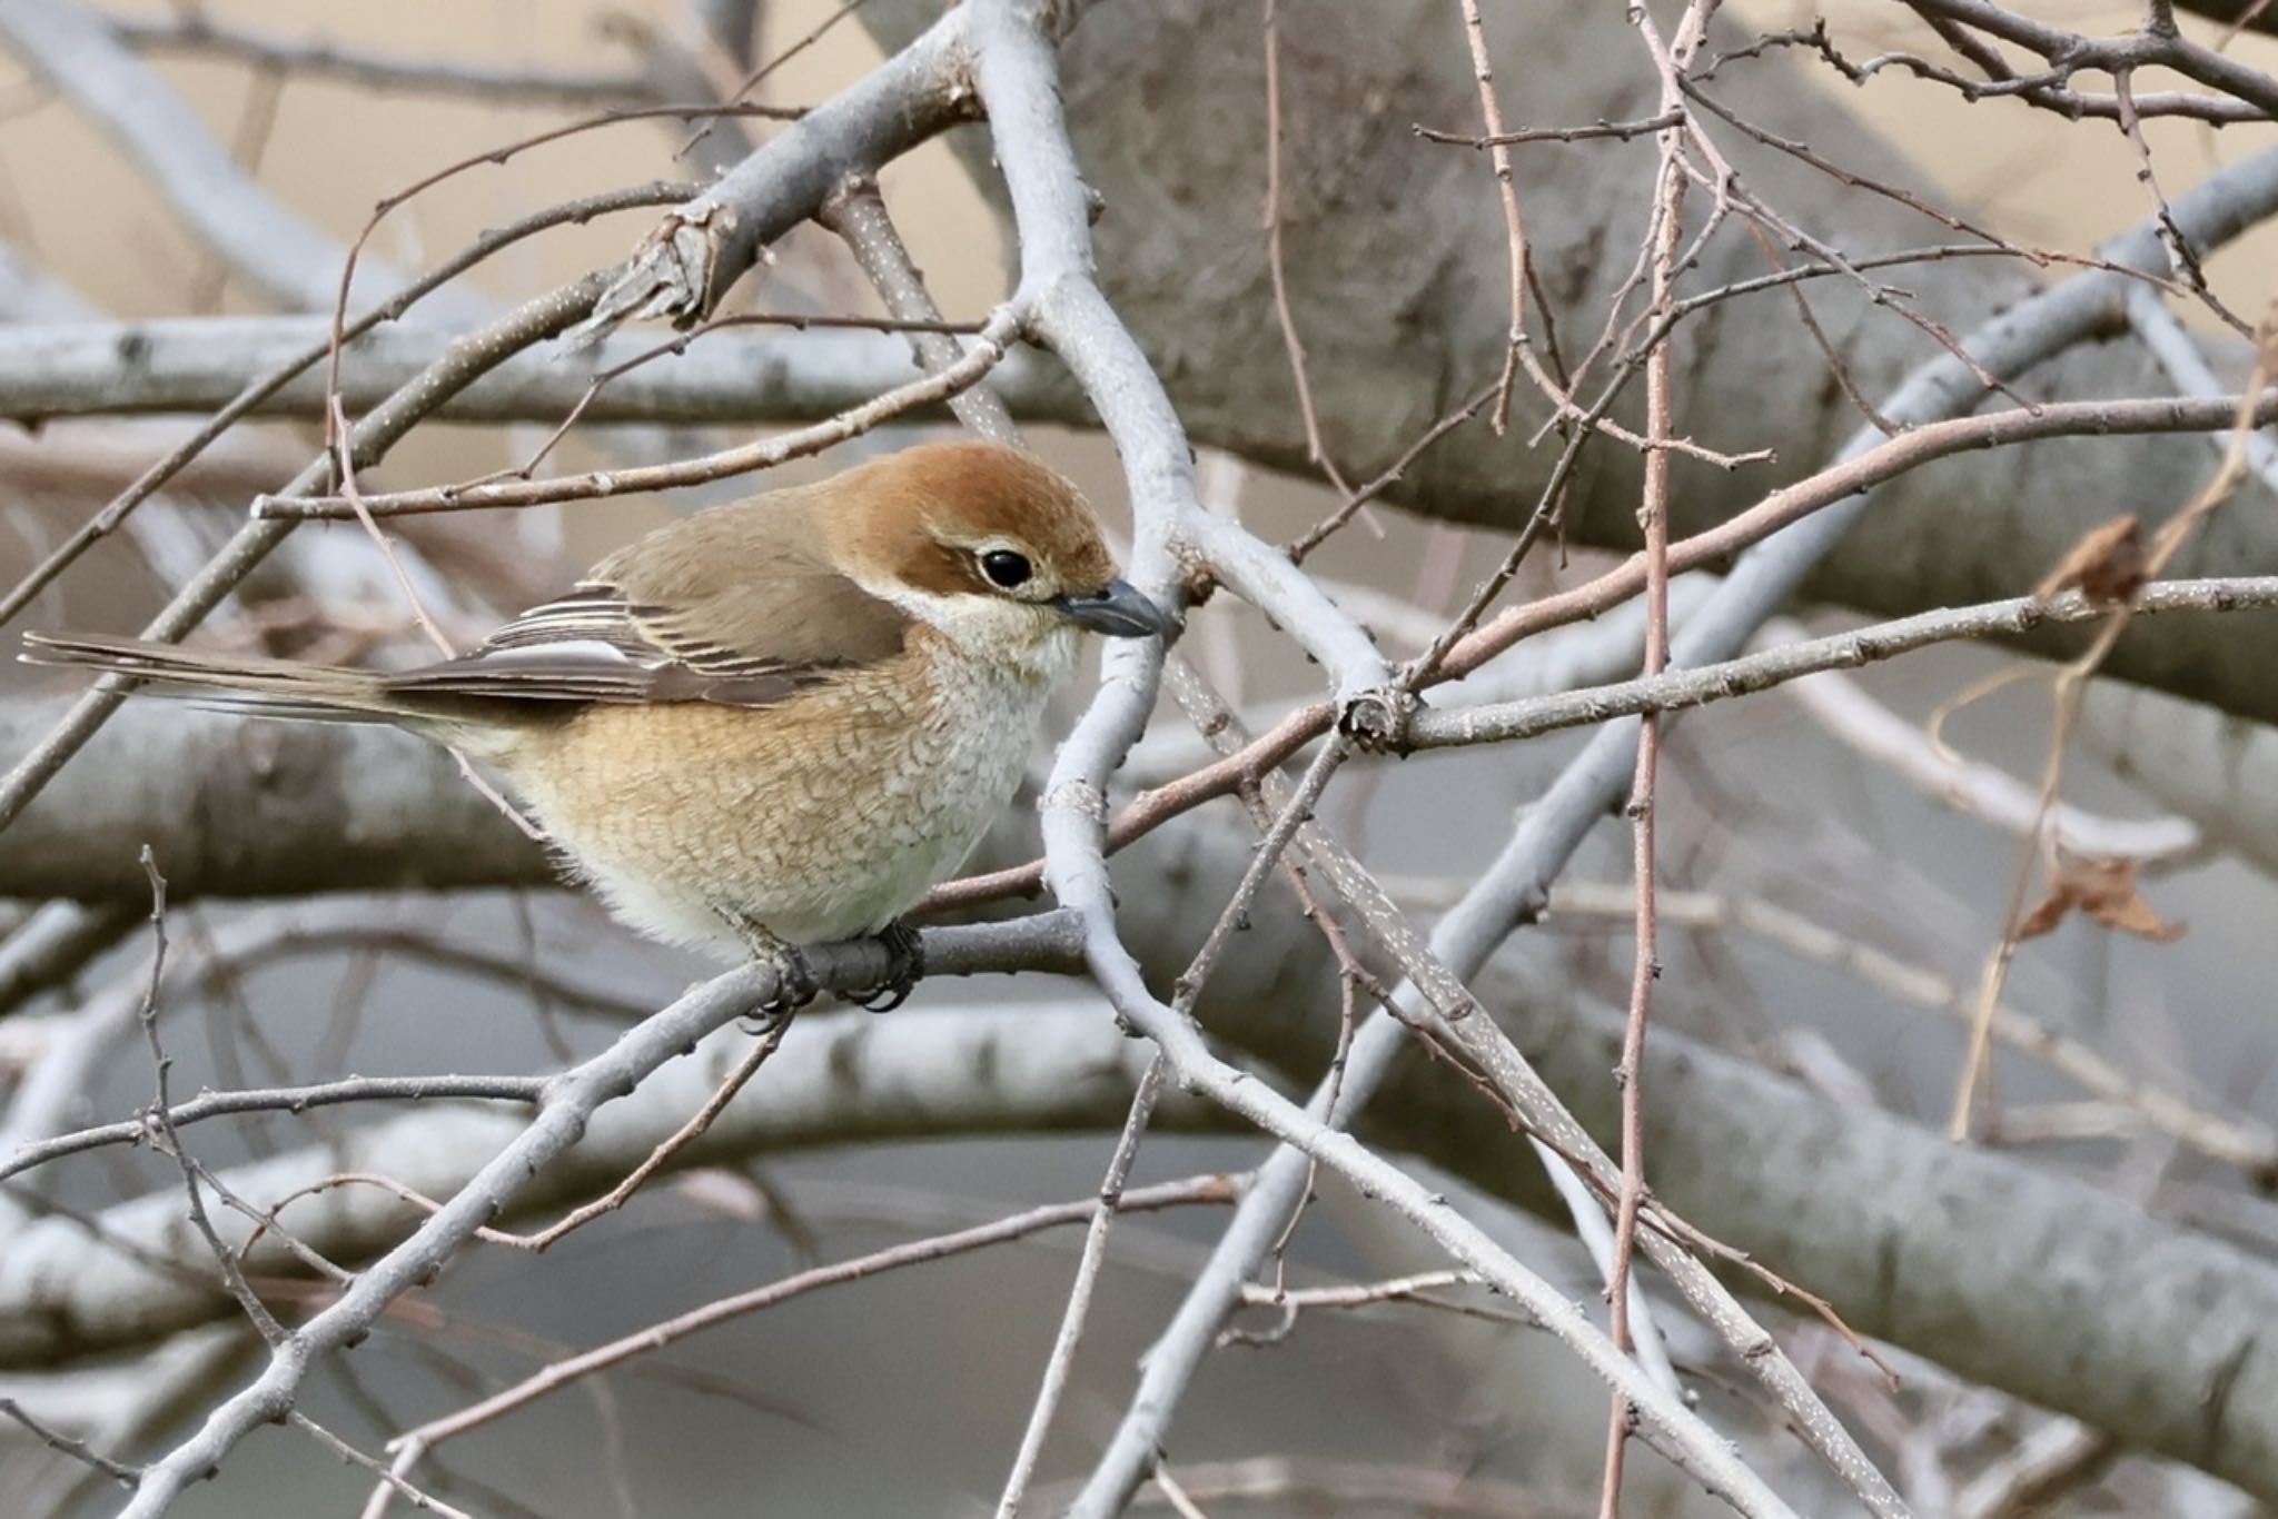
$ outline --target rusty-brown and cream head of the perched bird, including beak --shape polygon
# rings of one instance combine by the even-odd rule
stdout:
[[[1148,638],[1171,619],[1116,576],[1098,517],[1005,444],[904,449],[838,481],[838,567],[968,654],[1057,674],[1080,633]]]

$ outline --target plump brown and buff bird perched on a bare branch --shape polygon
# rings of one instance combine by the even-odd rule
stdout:
[[[679,517],[467,654],[376,672],[30,633],[23,658],[273,717],[385,722],[497,772],[638,931],[777,972],[902,922],[1009,804],[1082,633],[1164,638],[1064,476],[998,442],[886,453]]]

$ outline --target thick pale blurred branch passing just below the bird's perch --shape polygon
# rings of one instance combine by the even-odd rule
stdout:
[[[704,1105],[747,1048],[747,1034],[724,1029],[690,1059],[665,1064],[631,1095],[592,1111],[576,1148],[515,1189],[494,1223],[549,1214],[620,1182]],[[763,1075],[672,1166],[816,1146],[1112,1127],[1146,1059],[1144,1045],[1082,1004],[891,1020],[818,1011],[800,1018]],[[262,1205],[339,1173],[387,1175],[421,1196],[451,1198],[528,1127],[519,1105],[440,1102],[437,1109],[367,1123],[337,1146],[237,1166],[221,1180]],[[1162,1116],[1175,1127],[1226,1123],[1187,1098],[1171,1100]],[[282,1214],[296,1239],[351,1262],[399,1246],[415,1218],[401,1198],[374,1187],[310,1193]],[[155,1264],[169,1259],[182,1227],[180,1187],[105,1209],[100,1237],[68,1218],[16,1225],[0,1262],[0,1366],[146,1344],[230,1314],[235,1305],[219,1275]],[[216,1227],[235,1248],[253,1225],[223,1214]],[[248,1268],[305,1266],[271,1237],[253,1248]]]

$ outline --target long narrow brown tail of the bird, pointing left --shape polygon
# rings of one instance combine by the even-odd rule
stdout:
[[[25,633],[27,665],[68,665],[150,681],[157,695],[317,722],[403,722],[431,715],[385,688],[369,670],[296,665],[244,654],[212,654],[141,638]]]

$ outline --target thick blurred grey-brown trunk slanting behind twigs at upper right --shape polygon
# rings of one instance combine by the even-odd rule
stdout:
[[[923,0],[879,0],[863,20],[895,46],[929,20]],[[1283,241],[1312,399],[1349,478],[1387,467],[1437,417],[1501,369],[1506,237],[1485,155],[1421,141],[1412,125],[1478,130],[1478,93],[1440,0],[1314,0],[1283,30]],[[1497,89],[1519,125],[1652,116],[1656,82],[1620,7],[1535,7],[1490,18]],[[1720,43],[1743,41],[1727,34]],[[1146,344],[1189,433],[1205,444],[1308,471],[1305,428],[1273,305],[1260,210],[1264,57],[1255,7],[1212,0],[1098,5],[1064,43],[1068,116],[1093,189],[1107,296]],[[1877,180],[1939,191],[1786,52],[1727,68],[1708,89],[1754,123]],[[977,132],[961,132],[984,153]],[[1934,221],[1838,187],[1736,132],[1720,146],[1763,200],[1852,260],[1961,244]],[[1645,228],[1654,143],[1540,143],[1517,150],[1531,260],[1572,355],[1604,323]],[[993,171],[975,162],[984,189]],[[2173,191],[2173,187],[2169,187]],[[1706,196],[1695,198],[1706,200]],[[1961,207],[1968,210],[1968,207]],[[2134,207],[2114,214],[2114,232]],[[1770,271],[1759,246],[1722,232],[1686,289]],[[2062,276],[2062,266],[2050,278]],[[1911,305],[1964,332],[2037,285],[2021,260],[1955,257],[1884,271]],[[1884,396],[1936,342],[1873,307],[1857,285],[1802,285],[1859,389]],[[2112,312],[2112,332],[2123,330]],[[1784,292],[1706,307],[1677,330],[1679,430],[1722,451],[1770,446],[1775,465],[1722,471],[1674,460],[1672,531],[1695,533],[1834,458],[1861,414],[1836,385]],[[2021,383],[2027,399],[2157,396],[2173,385],[2132,346],[2078,348]],[[2007,405],[2007,401],[1996,399]],[[1558,458],[1529,446],[1547,403],[1524,380],[1508,435],[1483,421],[1431,449],[1392,492],[1426,517],[1515,528]],[[1617,417],[1638,419],[1636,408]],[[2196,437],[2066,440],[1920,469],[1884,487],[1806,592],[1898,615],[2030,590],[2093,526],[2119,512],[2173,515],[2214,471]],[[1633,549],[1642,471],[1633,451],[1592,442],[1567,503],[1576,542]],[[2171,574],[2278,569],[2271,492],[2244,487]],[[2278,720],[2260,649],[2278,615],[2139,626],[2107,667],[2132,681]],[[2037,638],[2043,651],[2078,638]]]

